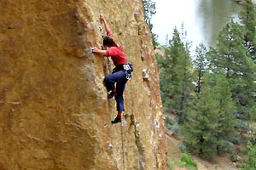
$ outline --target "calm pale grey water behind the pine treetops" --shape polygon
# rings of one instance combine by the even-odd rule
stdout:
[[[157,0],[156,14],[152,19],[153,31],[159,42],[172,37],[173,28],[183,24],[187,40],[193,42],[192,50],[200,42],[214,45],[220,31],[232,18],[237,20],[241,9],[231,0]]]

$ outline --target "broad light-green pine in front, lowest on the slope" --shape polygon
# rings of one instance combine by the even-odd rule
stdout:
[[[189,121],[184,126],[185,144],[201,156],[230,150],[235,135],[235,111],[224,73],[206,73],[198,100],[189,107]]]

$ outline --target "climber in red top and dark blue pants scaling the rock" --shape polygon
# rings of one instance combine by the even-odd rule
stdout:
[[[113,72],[104,78],[103,83],[107,88],[108,99],[116,100],[117,116],[112,123],[122,122],[122,112],[125,111],[123,93],[126,82],[131,79],[132,65],[127,63],[123,48],[114,40],[113,33],[110,31],[107,21],[103,14],[100,19],[105,27],[107,36],[103,38],[103,45],[107,46],[107,50],[101,50],[96,47],[91,48],[92,53],[100,56],[111,57],[115,68]],[[116,84],[115,84],[116,83]]]

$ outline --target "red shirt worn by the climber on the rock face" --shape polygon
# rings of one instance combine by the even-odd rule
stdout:
[[[113,33],[111,31],[107,32],[108,37],[113,38]],[[113,60],[113,65],[124,65],[127,61],[125,53],[122,47],[111,47],[108,48],[105,54],[106,57],[111,57]]]

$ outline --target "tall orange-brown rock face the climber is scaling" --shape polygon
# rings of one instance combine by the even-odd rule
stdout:
[[[122,124],[102,79],[103,13],[134,65]],[[143,79],[143,70],[148,78]],[[139,0],[0,1],[0,169],[166,169],[157,65]]]

